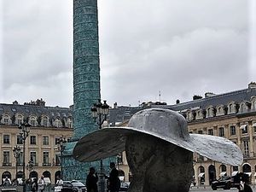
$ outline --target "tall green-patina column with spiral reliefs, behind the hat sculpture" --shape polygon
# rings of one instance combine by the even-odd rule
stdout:
[[[90,108],[101,98],[97,0],[73,0],[73,128],[72,141],[64,151],[63,179],[84,180],[90,166],[73,159],[73,147],[81,137],[98,129]],[[108,172],[109,159],[103,160]]]

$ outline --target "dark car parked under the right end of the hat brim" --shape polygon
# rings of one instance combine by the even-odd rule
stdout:
[[[211,186],[212,190],[217,189],[230,189],[230,188],[239,188],[240,179],[239,176],[225,176],[219,178],[217,181],[213,181]]]

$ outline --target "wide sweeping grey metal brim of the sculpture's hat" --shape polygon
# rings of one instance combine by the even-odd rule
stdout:
[[[240,148],[224,137],[189,134],[187,140],[182,140],[139,131],[133,127],[111,127],[91,132],[76,144],[73,157],[79,161],[90,162],[114,156],[125,151],[126,138],[132,134],[148,134],[158,137],[168,143],[231,166],[238,166],[242,163]]]

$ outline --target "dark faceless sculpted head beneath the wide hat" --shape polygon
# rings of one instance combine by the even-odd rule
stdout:
[[[147,135],[128,137],[125,146],[132,179],[130,191],[188,192],[192,152]]]

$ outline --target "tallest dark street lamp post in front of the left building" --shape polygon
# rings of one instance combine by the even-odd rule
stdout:
[[[23,142],[23,162],[22,162],[22,181],[23,181],[23,192],[26,192],[26,175],[25,175],[25,149],[26,149],[26,137],[28,137],[28,134],[30,132],[30,127],[31,125],[29,125],[28,123],[23,123],[21,125],[19,125],[19,129],[21,130],[20,132],[20,138],[22,139]]]

